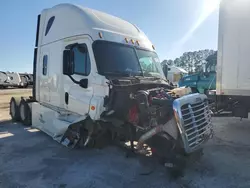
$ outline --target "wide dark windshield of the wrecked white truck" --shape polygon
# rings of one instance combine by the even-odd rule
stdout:
[[[98,73],[164,78],[156,53],[133,46],[97,41],[93,45]]]

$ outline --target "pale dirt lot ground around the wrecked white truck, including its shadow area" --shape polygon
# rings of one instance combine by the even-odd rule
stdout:
[[[69,150],[42,132],[8,121],[10,95],[29,92],[0,91],[0,187],[250,187],[249,120],[214,118],[215,137],[202,159],[183,178],[170,181],[163,167],[140,175],[138,160],[126,159],[117,148]]]

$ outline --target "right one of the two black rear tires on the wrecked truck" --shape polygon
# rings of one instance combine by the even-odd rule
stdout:
[[[25,99],[21,99],[19,104],[20,119],[21,122],[26,125],[31,125],[31,109],[28,102]]]

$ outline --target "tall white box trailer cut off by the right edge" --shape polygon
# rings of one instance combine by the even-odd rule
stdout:
[[[222,0],[220,4],[216,111],[247,118],[250,111],[250,1]]]

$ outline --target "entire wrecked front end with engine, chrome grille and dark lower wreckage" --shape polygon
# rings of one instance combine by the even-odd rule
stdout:
[[[194,153],[212,135],[211,113],[203,94],[188,94],[187,88],[172,89],[165,83],[131,80],[112,80],[109,88],[101,119],[87,118],[73,128],[78,129],[79,145],[95,147],[106,140],[125,146],[129,142],[133,153],[156,157],[173,167],[179,163],[178,156]],[[64,140],[69,137],[67,132]]]

